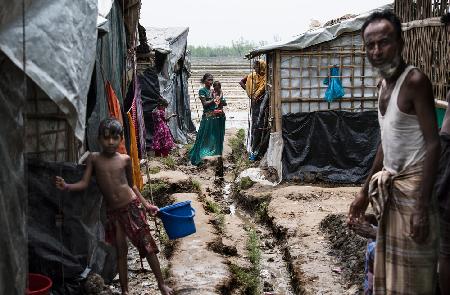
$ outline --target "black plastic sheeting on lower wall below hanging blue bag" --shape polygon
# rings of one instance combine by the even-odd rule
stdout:
[[[380,142],[376,111],[283,116],[283,178],[361,183]]]

